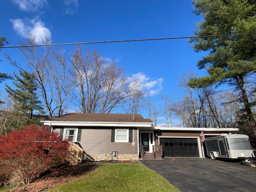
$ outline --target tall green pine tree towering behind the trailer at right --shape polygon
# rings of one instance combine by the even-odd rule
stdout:
[[[248,87],[255,87],[256,72],[256,0],[194,0],[194,13],[203,16],[192,38],[196,52],[209,54],[198,61],[199,69],[208,76],[193,78],[191,87],[212,84],[232,86],[240,95],[246,119],[256,136],[253,101],[248,98]],[[246,34],[246,35],[237,35]],[[228,35],[228,36],[220,36]],[[200,37],[213,36],[213,37]]]

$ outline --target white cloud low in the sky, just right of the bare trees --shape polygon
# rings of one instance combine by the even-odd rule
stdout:
[[[145,74],[140,72],[137,74],[133,74],[130,77],[131,82],[134,80],[137,80],[140,82],[141,88],[143,90],[150,92],[150,95],[155,95],[159,93],[160,90],[162,90],[162,82],[164,79],[159,78],[157,80],[150,80],[149,77],[147,77]]]

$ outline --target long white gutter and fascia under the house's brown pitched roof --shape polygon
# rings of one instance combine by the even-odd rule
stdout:
[[[41,121],[48,126],[98,126],[98,127],[152,127],[152,123],[135,122],[81,122],[81,121]]]

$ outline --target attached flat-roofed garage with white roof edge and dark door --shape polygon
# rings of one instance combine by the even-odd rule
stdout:
[[[231,134],[238,128],[162,128],[155,127],[155,144],[162,146],[163,157],[206,157],[200,133],[206,138]]]

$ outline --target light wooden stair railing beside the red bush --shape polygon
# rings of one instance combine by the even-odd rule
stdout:
[[[70,145],[70,152],[67,158],[68,162],[70,162],[72,165],[82,164],[83,152],[84,150],[80,146],[78,146],[75,143],[72,143]]]

